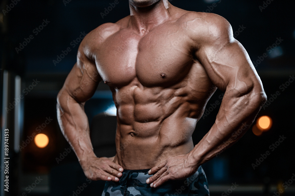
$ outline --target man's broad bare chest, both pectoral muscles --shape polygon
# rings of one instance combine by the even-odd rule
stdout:
[[[96,66],[105,83],[119,87],[135,78],[147,87],[179,82],[193,63],[186,36],[171,26],[145,36],[122,29],[96,50]]]

